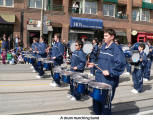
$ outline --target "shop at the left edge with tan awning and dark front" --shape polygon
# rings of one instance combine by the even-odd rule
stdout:
[[[13,37],[14,32],[15,15],[0,14],[0,37],[3,34]]]

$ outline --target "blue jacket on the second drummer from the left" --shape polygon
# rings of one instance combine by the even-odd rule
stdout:
[[[38,43],[38,47],[37,47],[37,50],[39,51],[38,55],[40,55],[41,57],[46,57],[46,51],[45,51],[46,48],[47,48],[47,45],[44,42]]]

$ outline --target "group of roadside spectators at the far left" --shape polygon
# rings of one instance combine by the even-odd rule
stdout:
[[[18,35],[16,35],[15,38],[11,38],[4,34],[3,37],[0,38],[0,55],[2,64],[23,63],[23,59],[21,58],[22,50],[23,48]]]

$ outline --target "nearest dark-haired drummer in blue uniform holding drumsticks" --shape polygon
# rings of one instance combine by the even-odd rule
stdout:
[[[124,72],[126,60],[121,49],[114,43],[116,33],[113,29],[107,29],[104,31],[104,44],[100,49],[98,56],[98,67],[103,71],[97,69],[96,81],[106,83],[112,86],[113,100],[116,87],[119,84],[119,76]],[[89,63],[88,67],[93,67],[93,63]],[[93,100],[94,113],[96,115],[110,115],[111,114],[111,102],[102,103]]]

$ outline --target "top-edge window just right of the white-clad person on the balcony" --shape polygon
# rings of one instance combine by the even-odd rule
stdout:
[[[97,14],[97,1],[85,1],[85,14]]]

